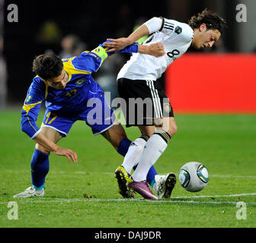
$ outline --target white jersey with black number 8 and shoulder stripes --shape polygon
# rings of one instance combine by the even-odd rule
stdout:
[[[157,80],[175,59],[187,51],[194,38],[192,28],[188,24],[178,21],[153,17],[145,24],[149,33],[152,31],[154,33],[146,39],[143,45],[162,43],[165,55],[156,58],[153,55],[134,53],[130,60],[123,65],[117,79],[125,77],[130,80]]]

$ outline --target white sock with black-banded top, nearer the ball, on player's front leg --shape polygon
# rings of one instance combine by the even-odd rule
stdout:
[[[170,135],[163,130],[156,131],[149,137],[143,150],[142,156],[139,159],[139,165],[133,172],[133,181],[144,181],[151,166],[153,166],[158,158],[165,151]]]

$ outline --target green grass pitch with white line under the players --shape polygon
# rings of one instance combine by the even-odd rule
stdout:
[[[256,227],[256,115],[176,115],[178,133],[155,168],[178,175],[184,163],[198,161],[210,181],[197,193],[177,182],[171,199],[159,201],[139,194],[123,200],[114,178],[123,157],[84,122],[59,142],[78,153],[78,163],[52,154],[45,197],[14,199],[30,186],[34,141],[21,131],[19,110],[0,116],[0,228]],[[42,118],[43,112],[38,125]],[[136,128],[126,133],[131,140],[139,135]],[[18,219],[9,219],[10,201],[17,202]]]

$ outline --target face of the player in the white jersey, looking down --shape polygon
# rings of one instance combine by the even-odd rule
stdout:
[[[199,29],[195,30],[192,46],[196,49],[212,47],[220,36],[219,30],[207,30],[206,25],[202,24]]]

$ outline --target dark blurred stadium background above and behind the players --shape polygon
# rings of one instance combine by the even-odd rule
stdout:
[[[109,3],[110,2],[110,3]],[[184,2],[184,4],[182,3]],[[18,23],[7,21],[7,6],[18,5]],[[229,24],[229,30],[222,36],[223,45],[228,52],[236,52],[232,40],[236,34],[234,11],[236,1],[224,1],[222,16]],[[224,5],[224,6],[223,6]],[[69,33],[75,33],[82,39],[87,49],[93,49],[108,37],[129,36],[139,17],[146,20],[154,16],[187,20],[204,8],[216,11],[213,1],[5,1],[4,18],[4,57],[7,64],[7,102],[21,103],[27,88],[34,77],[31,65],[36,55],[53,50],[61,51],[60,41]],[[229,7],[229,8],[228,8]],[[56,38],[45,40],[40,35],[43,24],[51,21],[55,24]],[[190,49],[189,52],[195,50]],[[210,50],[211,52],[215,51]]]

